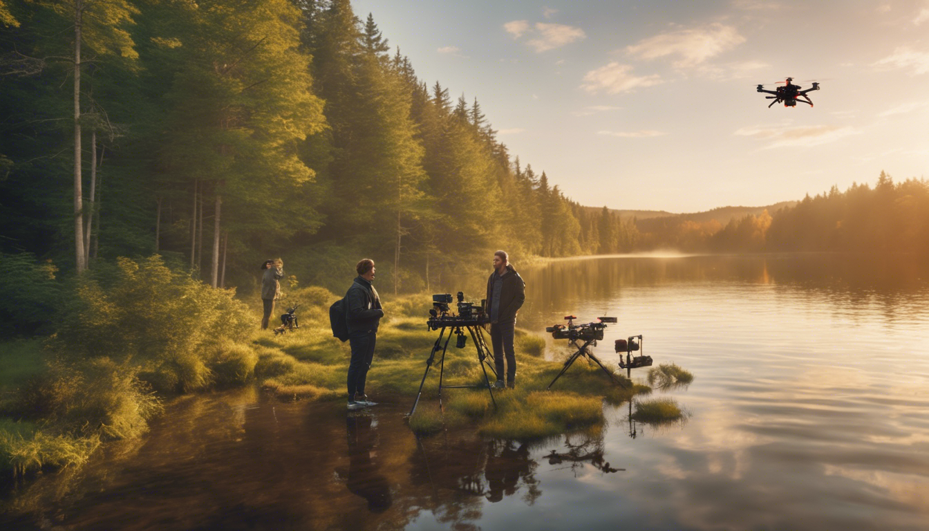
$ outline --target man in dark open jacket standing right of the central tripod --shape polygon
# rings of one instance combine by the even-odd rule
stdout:
[[[493,272],[487,279],[487,312],[491,317],[491,345],[497,369],[497,388],[504,387],[504,353],[506,386],[512,388],[517,378],[517,357],[513,337],[517,312],[526,301],[526,283],[509,263],[505,251],[493,253]]]

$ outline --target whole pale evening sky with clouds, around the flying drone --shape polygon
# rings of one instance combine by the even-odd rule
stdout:
[[[929,178],[929,0],[354,0],[586,206],[698,212]],[[793,77],[815,104],[756,91]]]

